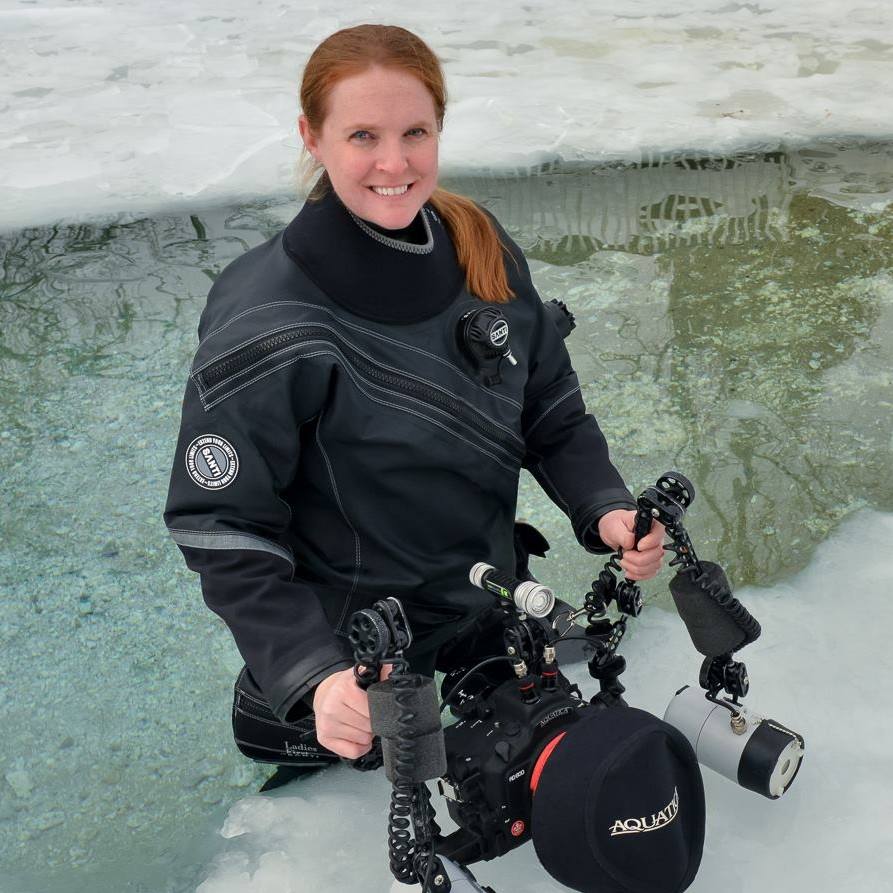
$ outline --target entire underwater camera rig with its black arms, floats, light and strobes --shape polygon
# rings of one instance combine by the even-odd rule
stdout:
[[[556,604],[536,581],[475,565],[471,581],[501,608],[503,653],[449,673],[439,707],[434,680],[409,673],[395,647],[409,637],[399,603],[388,599],[354,615],[358,635],[374,625],[363,615],[378,610],[387,621],[375,625],[371,644],[361,636],[358,682],[371,683],[373,732],[394,785],[388,842],[398,880],[419,882],[425,893],[489,890],[467,866],[532,839],[546,870],[581,893],[679,893],[693,882],[703,851],[699,762],[769,798],[789,788],[803,738],[739,702],[749,683],[732,655],[760,627],[721,568],[695,555],[682,526],[693,498],[690,482],[668,472],[637,500],[636,539],[654,520],[666,527],[665,548],[678,569],[670,589],[705,656],[703,690],[679,689],[663,719],[623,698],[626,664],[617,648],[643,602],[637,584],[616,578],[619,554],[579,610]],[[608,616],[612,603],[619,619]],[[599,682],[589,700],[557,661],[562,642],[580,639]],[[393,665],[391,677],[372,682],[381,663]],[[441,729],[447,706],[457,721]],[[424,783],[433,779],[458,826],[446,836]]]

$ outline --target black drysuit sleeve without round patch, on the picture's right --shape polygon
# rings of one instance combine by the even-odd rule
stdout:
[[[564,339],[536,294],[523,255],[519,266],[536,312],[521,416],[524,467],[568,516],[587,551],[610,552],[598,535],[599,519],[636,503],[611,462],[598,422],[586,411]]]

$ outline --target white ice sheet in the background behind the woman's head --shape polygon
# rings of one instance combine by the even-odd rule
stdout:
[[[893,132],[888,3],[618,8],[2,0],[0,228],[294,192],[301,66],[370,19],[443,59],[447,171]]]

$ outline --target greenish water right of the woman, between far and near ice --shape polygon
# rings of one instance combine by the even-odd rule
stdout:
[[[829,144],[480,190],[581,316],[570,348],[611,384],[587,399],[628,478],[663,457],[697,481],[693,529],[739,583],[802,567],[853,508],[893,502],[893,422],[875,408],[893,392],[846,371],[884,350],[890,365],[893,229],[871,207],[891,177],[889,146]],[[841,398],[845,420],[827,412]]]

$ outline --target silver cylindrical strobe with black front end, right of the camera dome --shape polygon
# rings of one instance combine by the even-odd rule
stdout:
[[[689,686],[670,701],[664,721],[688,738],[702,766],[771,800],[790,787],[803,760],[801,735]]]

